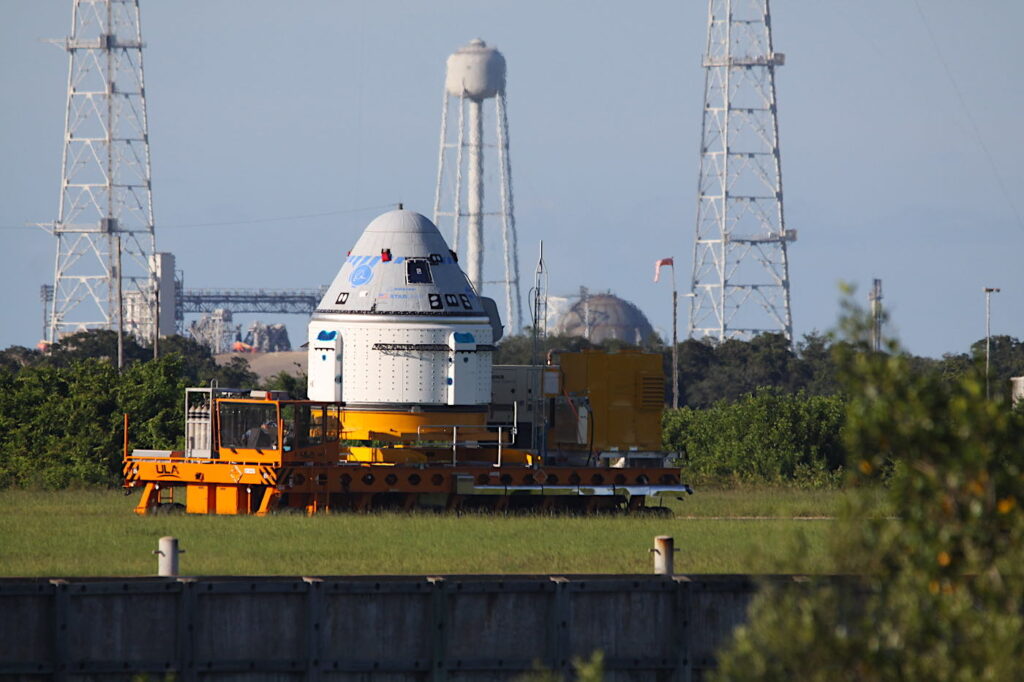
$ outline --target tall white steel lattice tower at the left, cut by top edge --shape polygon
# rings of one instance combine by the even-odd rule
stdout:
[[[156,244],[138,0],[73,0],[48,340],[154,334]]]

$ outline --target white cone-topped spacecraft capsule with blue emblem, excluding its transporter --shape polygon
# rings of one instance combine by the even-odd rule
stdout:
[[[367,226],[309,323],[309,399],[343,401],[346,413],[482,419],[501,335],[495,302],[437,227],[389,211]]]

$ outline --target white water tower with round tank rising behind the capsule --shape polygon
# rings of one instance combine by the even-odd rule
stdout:
[[[496,140],[484,142],[484,100],[495,100]],[[453,112],[458,111],[458,130],[450,139]],[[497,147],[499,203],[486,211],[483,202],[484,147]],[[455,163],[450,157],[455,154]],[[454,168],[452,166],[454,165]],[[454,171],[454,173],[453,173]],[[454,178],[449,177],[453,175]],[[447,189],[445,189],[447,186]],[[505,276],[484,281],[484,217],[501,220]],[[452,248],[460,252],[465,231],[466,272],[480,294],[483,285],[505,288],[505,322],[513,334],[522,328],[522,302],[519,296],[519,259],[516,246],[515,216],[512,210],[512,166],[509,161],[509,122],[505,102],[505,57],[480,39],[472,40],[447,58],[444,98],[441,104],[441,140],[437,160],[437,191],[434,195],[434,223],[452,221]],[[465,230],[463,229],[465,227]]]

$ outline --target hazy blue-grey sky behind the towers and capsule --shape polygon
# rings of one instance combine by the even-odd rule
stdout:
[[[43,39],[71,4],[2,0],[0,347],[42,334],[55,240],[26,224],[57,214],[68,59]],[[429,217],[444,60],[480,37],[508,62],[524,300],[544,240],[551,294],[610,290],[671,335],[653,263],[689,280],[702,0],[141,8],[157,247],[186,288],[315,288],[389,205]],[[1022,25],[1013,0],[772,2],[798,339],[876,278],[914,353],[983,338],[985,287],[992,334],[1024,337]],[[304,318],[263,318],[304,340]]]

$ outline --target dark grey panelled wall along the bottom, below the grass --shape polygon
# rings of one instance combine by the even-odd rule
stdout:
[[[741,576],[0,580],[0,678],[509,680],[600,649],[608,680],[700,680],[756,589]]]

